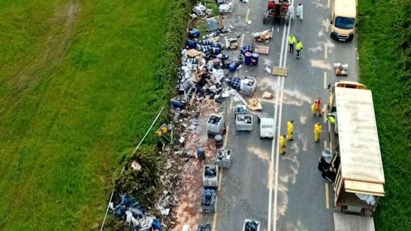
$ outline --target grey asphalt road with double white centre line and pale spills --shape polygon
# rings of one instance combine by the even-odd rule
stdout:
[[[295,1],[295,8],[299,3],[304,5],[304,21],[295,17],[290,27],[284,23],[274,26],[262,23],[267,1],[235,2],[233,13],[224,18],[225,25],[233,27],[232,32],[225,35],[240,34],[242,44],[252,43],[252,32],[270,29],[274,34],[269,43],[260,43],[269,46],[270,53],[260,55],[259,65],[244,66],[233,75],[257,77],[255,98],[261,99],[264,91],[274,93],[274,99],[262,99],[262,105],[263,111],[275,119],[277,131],[274,140],[259,139],[257,123],[251,132],[235,131],[232,107],[237,102],[233,99],[226,102],[226,148],[232,149],[234,156],[231,168],[221,175],[217,213],[206,217],[213,220],[214,230],[241,230],[246,218],[261,221],[261,231],[334,230],[332,186],[316,169],[321,151],[328,145],[324,143],[327,126],[323,118],[313,117],[310,105],[318,97],[323,104],[328,102],[328,83],[357,81],[357,42],[354,38],[350,43],[341,43],[329,37],[327,0]],[[247,21],[251,24],[247,25]],[[303,42],[301,59],[287,52],[288,34]],[[234,57],[239,52],[225,53]],[[349,76],[337,78],[332,69],[334,62],[348,63]],[[266,74],[267,66],[285,66],[288,76]],[[256,122],[256,116],[254,119]],[[294,121],[294,141],[287,142],[286,155],[280,156],[277,140],[286,133],[288,120]],[[320,143],[313,141],[316,122],[323,124]]]

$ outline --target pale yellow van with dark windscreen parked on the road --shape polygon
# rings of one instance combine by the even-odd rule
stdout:
[[[356,27],[357,0],[334,0],[331,10],[331,37],[351,41]]]

